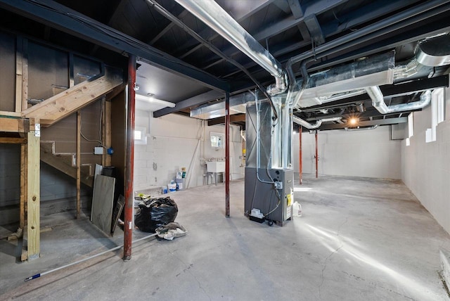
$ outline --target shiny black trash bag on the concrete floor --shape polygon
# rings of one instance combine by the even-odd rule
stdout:
[[[178,207],[172,198],[151,198],[139,204],[134,224],[139,230],[155,233],[156,228],[174,222]]]

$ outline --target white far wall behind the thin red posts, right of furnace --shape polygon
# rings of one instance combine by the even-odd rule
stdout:
[[[299,134],[294,134],[294,172],[299,172]],[[319,174],[401,179],[401,141],[390,139],[389,126],[364,131],[318,133]],[[314,134],[302,134],[302,170],[316,172]]]

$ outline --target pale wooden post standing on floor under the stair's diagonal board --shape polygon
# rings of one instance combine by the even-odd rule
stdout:
[[[27,259],[40,255],[40,124],[32,124],[27,136]]]

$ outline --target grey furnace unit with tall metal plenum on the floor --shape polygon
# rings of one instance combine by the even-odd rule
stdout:
[[[247,103],[244,207],[252,220],[283,226],[292,217],[292,109],[285,97],[272,100],[278,118],[266,98]]]

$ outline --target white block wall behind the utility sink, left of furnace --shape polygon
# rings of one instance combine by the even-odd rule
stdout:
[[[206,184],[205,159],[224,158],[224,148],[210,146],[210,132],[225,133],[225,127],[181,115],[153,118],[153,113],[136,110],[136,128],[146,129],[147,144],[134,146],[134,191],[165,186],[186,167],[188,187]],[[242,144],[239,128],[231,126],[231,179],[243,177],[240,167]]]

